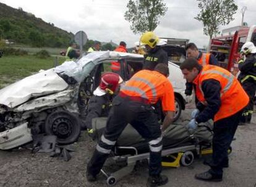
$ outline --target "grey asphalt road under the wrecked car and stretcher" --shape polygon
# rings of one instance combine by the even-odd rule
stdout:
[[[180,121],[189,119],[191,109],[182,113]],[[233,152],[229,156],[229,168],[224,169],[221,182],[203,182],[194,179],[195,173],[208,170],[197,158],[189,167],[164,168],[163,174],[169,177],[165,186],[256,186],[256,114],[253,123],[239,126]],[[0,151],[0,186],[107,186],[103,175],[95,183],[88,183],[85,169],[96,143],[85,133],[75,143],[76,151],[72,159],[65,162],[48,153],[32,154],[28,149]],[[117,182],[116,186],[145,186],[147,183],[147,164],[140,164],[130,175]]]

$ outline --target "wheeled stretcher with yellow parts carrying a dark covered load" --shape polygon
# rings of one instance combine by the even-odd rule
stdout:
[[[195,132],[189,132],[185,124],[187,122],[170,125],[164,133],[161,153],[163,167],[188,166],[192,164],[195,156],[212,153],[213,122],[201,124]],[[92,126],[96,140],[100,139],[105,125],[105,117],[93,119]],[[105,175],[108,186],[114,186],[122,177],[132,172],[138,162],[148,160],[149,157],[147,141],[140,137],[131,125],[127,125],[105,163],[105,166],[122,165],[123,167],[112,173],[101,169],[101,173]]]

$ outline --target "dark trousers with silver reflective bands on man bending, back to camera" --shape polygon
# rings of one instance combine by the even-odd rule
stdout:
[[[161,173],[162,137],[157,115],[150,105],[143,103],[142,100],[139,101],[138,98],[136,100],[119,95],[114,98],[105,132],[87,165],[88,173],[96,176],[100,172],[111,149],[116,144],[117,138],[128,123],[148,140],[150,147],[149,175],[154,176]]]

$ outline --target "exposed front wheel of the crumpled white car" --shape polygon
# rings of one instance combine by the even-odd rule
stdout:
[[[77,117],[68,111],[55,111],[46,119],[45,132],[56,135],[57,142],[70,144],[79,138],[81,127]]]

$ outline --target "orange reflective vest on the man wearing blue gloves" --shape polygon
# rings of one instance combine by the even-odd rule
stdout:
[[[214,121],[232,116],[249,103],[249,97],[236,77],[229,71],[213,65],[203,66],[202,72],[193,81],[196,86],[195,95],[200,102],[206,103],[202,82],[207,79],[215,79],[221,84],[221,106]]]

